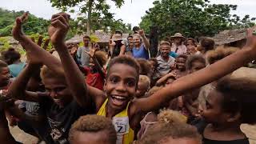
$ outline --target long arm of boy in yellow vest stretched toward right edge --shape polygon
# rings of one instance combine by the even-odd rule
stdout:
[[[252,31],[253,30],[249,30],[246,46],[244,46],[242,50],[238,50],[238,52],[231,54],[202,70],[198,70],[193,74],[188,74],[179,78],[170,86],[166,86],[149,98],[138,99],[133,105],[133,107],[135,107],[133,109],[134,112],[136,113],[140,110],[143,112],[156,110],[162,103],[185,94],[189,90],[193,90],[194,88],[213,82],[218,78],[222,78],[226,74],[230,74],[232,71],[251,62],[256,58],[256,36],[252,35]]]

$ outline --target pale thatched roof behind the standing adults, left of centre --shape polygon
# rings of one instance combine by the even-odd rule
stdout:
[[[98,38],[98,42],[109,42],[110,41],[110,35],[111,34],[106,34],[102,31],[95,31],[93,34]],[[122,34],[122,38],[127,38],[129,34]],[[85,36],[84,34],[82,35],[75,35],[73,38],[70,38],[66,42],[74,42],[74,43],[80,43],[82,42],[82,38]]]

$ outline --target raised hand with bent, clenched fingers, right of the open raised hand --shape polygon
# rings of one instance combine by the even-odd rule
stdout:
[[[51,18],[51,25],[48,29],[50,41],[54,45],[63,44],[66,34],[70,29],[69,25],[70,15],[66,13],[54,14]],[[55,46],[58,48],[58,46]]]

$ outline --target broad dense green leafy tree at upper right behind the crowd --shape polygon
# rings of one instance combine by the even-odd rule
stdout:
[[[146,11],[140,26],[149,32],[158,26],[161,38],[180,32],[187,37],[213,36],[221,30],[254,26],[249,15],[231,15],[236,5],[210,4],[209,0],[156,0]]]

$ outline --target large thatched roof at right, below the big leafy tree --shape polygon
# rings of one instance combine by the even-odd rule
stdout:
[[[246,29],[224,30],[214,36],[216,45],[225,45],[246,38]]]

